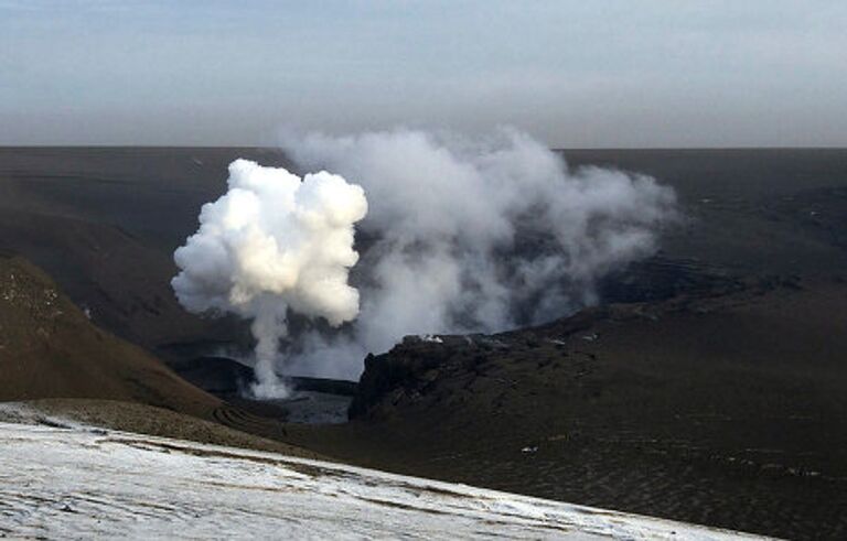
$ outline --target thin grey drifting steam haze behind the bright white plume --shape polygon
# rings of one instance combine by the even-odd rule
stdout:
[[[362,312],[350,332],[307,333],[293,371],[357,377],[367,351],[407,334],[492,332],[566,315],[594,282],[655,250],[675,195],[653,178],[585,167],[526,134],[482,142],[397,130],[283,138],[309,170],[364,186],[354,279]]]

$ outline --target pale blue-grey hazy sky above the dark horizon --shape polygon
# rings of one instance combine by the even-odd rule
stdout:
[[[0,0],[0,144],[847,147],[844,0]]]

